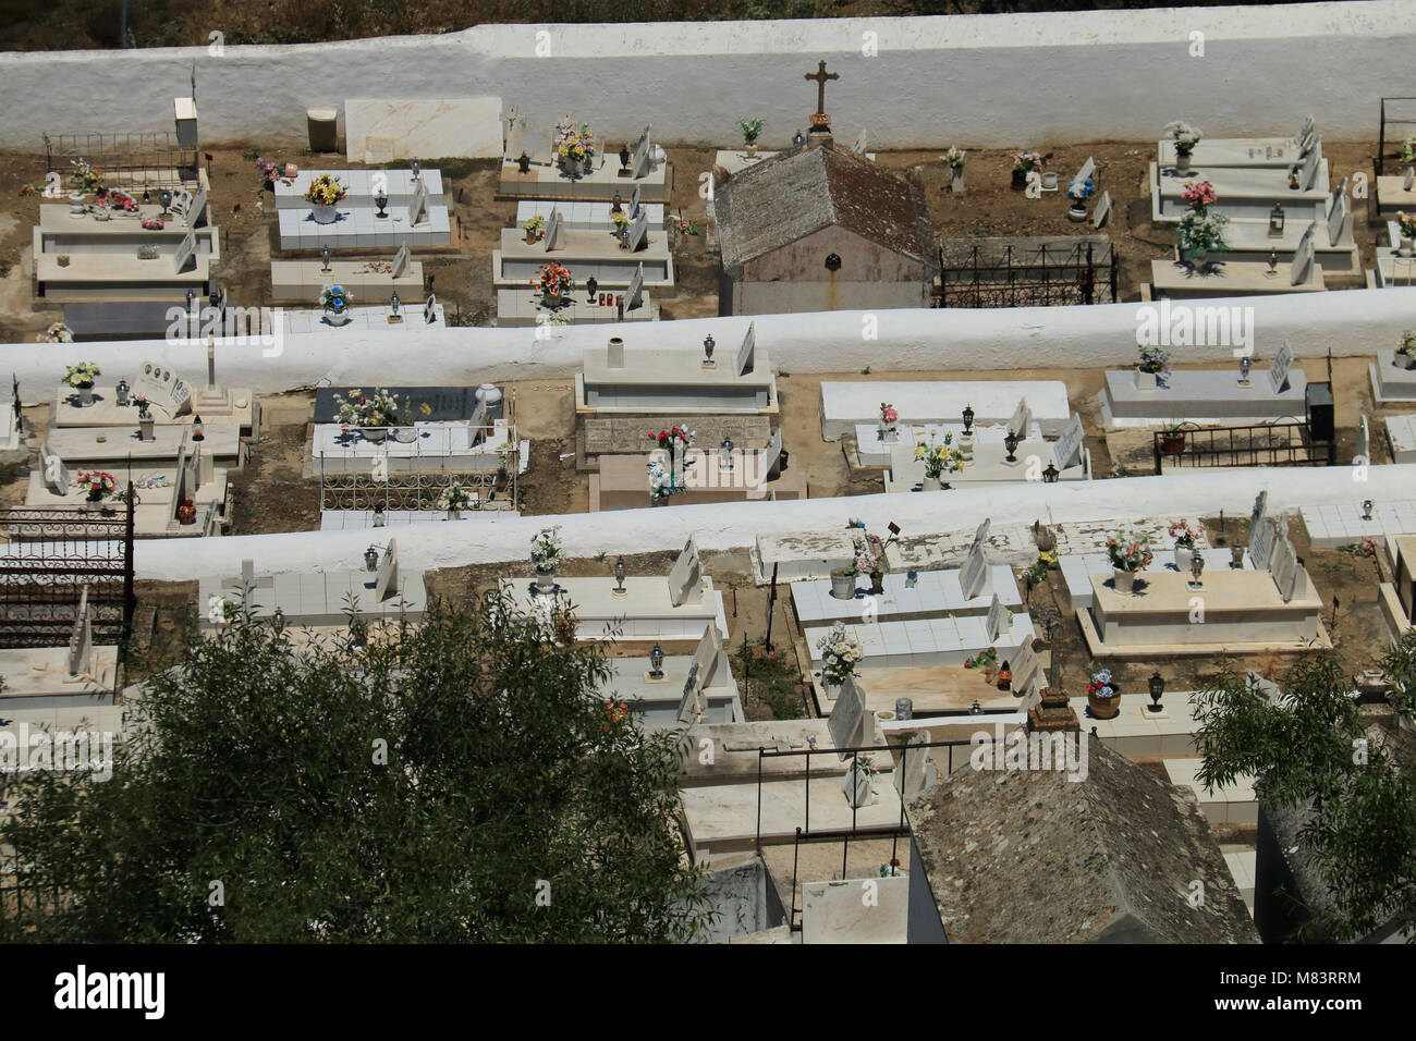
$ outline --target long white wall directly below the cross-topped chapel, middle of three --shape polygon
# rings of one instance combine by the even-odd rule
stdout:
[[[1416,327],[1416,288],[1194,303],[1242,309],[1245,327],[1255,330],[1255,355],[1260,363],[1272,358],[1283,340],[1300,358],[1324,357],[1330,350],[1334,357],[1375,354],[1378,348],[1393,347],[1402,330]],[[787,372],[851,372],[865,365],[877,372],[1102,368],[1134,364],[1138,316],[1148,306],[1153,305],[830,312],[763,314],[752,322],[756,341],[766,348],[773,368]],[[1158,316],[1165,314],[1154,306]],[[227,387],[251,388],[256,394],[375,381],[446,387],[555,378],[578,372],[583,350],[602,346],[612,336],[624,339],[632,361],[636,350],[701,354],[709,331],[721,350],[728,351],[748,329],[748,319],[741,317],[694,319],[651,326],[556,326],[541,330],[547,339],[537,339],[538,330],[532,329],[447,329],[418,322],[412,316],[398,333],[321,329],[287,336],[279,347],[221,341],[217,377]],[[278,348],[279,355],[266,357]],[[105,375],[129,380],[143,361],[161,363],[188,382],[202,381],[207,371],[202,341],[8,344],[0,351],[0,374],[8,365],[28,405],[48,401],[50,388],[58,384],[65,365],[81,360],[99,363]],[[1231,344],[1174,347],[1171,353],[1181,363],[1235,357]]]

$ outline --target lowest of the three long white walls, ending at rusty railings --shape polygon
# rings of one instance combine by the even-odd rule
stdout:
[[[1236,469],[1164,477],[1075,482],[1070,484],[1007,484],[954,489],[915,496],[852,496],[804,499],[789,503],[714,503],[556,517],[500,518],[489,514],[474,524],[430,521],[395,531],[302,531],[236,538],[140,540],[139,578],[183,581],[201,575],[241,574],[241,561],[255,561],[258,574],[350,571],[362,567],[370,541],[398,540],[405,568],[449,568],[462,564],[524,562],[531,538],[544,527],[564,524],[568,555],[593,557],[680,550],[691,533],[700,550],[750,547],[758,535],[843,528],[860,517],[872,531],[889,521],[906,535],[971,531],[984,517],[994,524],[1031,524],[1051,518],[1073,523],[1143,517],[1212,517],[1223,510],[1242,517],[1260,489],[1269,491],[1269,513],[1300,506],[1357,504],[1382,490],[1416,487],[1416,466],[1374,466],[1366,483],[1354,470],[1334,467]],[[1123,491],[1124,489],[1124,491]],[[942,513],[947,504],[947,520]],[[525,568],[511,574],[528,574]]]

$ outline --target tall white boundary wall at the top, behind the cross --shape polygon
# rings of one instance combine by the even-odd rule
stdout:
[[[212,30],[221,30],[212,24]],[[1194,57],[1202,34],[1204,57]],[[41,133],[169,130],[193,65],[208,144],[304,139],[310,106],[346,98],[497,96],[535,120],[568,105],[610,142],[644,123],[670,143],[724,144],[739,116],[786,142],[827,59],[837,133],[875,147],[1144,140],[1191,118],[1209,136],[1369,140],[1378,99],[1416,50],[1410,0],[1075,14],[477,25],[429,37],[296,47],[0,55],[0,147]],[[571,99],[568,102],[568,99]]]

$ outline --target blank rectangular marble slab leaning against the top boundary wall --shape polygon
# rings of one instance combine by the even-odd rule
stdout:
[[[500,159],[501,98],[346,98],[344,147],[351,163]]]

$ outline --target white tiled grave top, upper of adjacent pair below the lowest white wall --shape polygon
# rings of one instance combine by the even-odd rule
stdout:
[[[885,592],[868,596],[869,576],[857,576],[854,601],[838,601],[831,596],[830,579],[813,579],[792,584],[792,601],[797,619],[803,626],[835,620],[860,620],[869,606],[875,616],[888,620],[895,615],[947,615],[949,612],[970,612],[986,615],[994,593],[1004,606],[1022,609],[1022,595],[1007,564],[990,568],[991,585],[986,593],[964,599],[957,571],[922,571],[913,588],[908,586],[906,575],[885,575]]]

